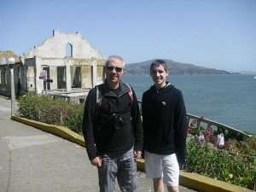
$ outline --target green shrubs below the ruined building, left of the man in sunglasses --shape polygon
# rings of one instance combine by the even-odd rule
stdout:
[[[18,115],[50,125],[63,125],[81,134],[84,106],[28,92],[20,97]]]

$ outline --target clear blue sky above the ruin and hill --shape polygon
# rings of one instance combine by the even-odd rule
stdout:
[[[0,50],[27,53],[52,32],[81,32],[126,64],[169,59],[256,72],[256,0],[1,0]]]

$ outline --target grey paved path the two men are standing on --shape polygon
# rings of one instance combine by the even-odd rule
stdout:
[[[85,148],[13,121],[10,113],[10,100],[0,97],[0,192],[99,191]],[[154,191],[151,179],[138,176],[138,192]]]

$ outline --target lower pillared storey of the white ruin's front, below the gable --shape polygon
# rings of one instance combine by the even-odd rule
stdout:
[[[80,86],[73,87],[91,88],[93,85],[101,84],[104,80],[103,66],[105,65],[105,59],[60,59],[36,56],[34,60],[37,68],[35,81],[38,93],[44,91],[44,81],[39,79],[40,73],[44,70],[44,66],[49,67],[49,79],[53,79],[53,83],[49,83],[50,90],[66,89],[70,91],[72,90],[73,83],[77,82],[78,79],[80,79]],[[93,74],[93,66],[96,66],[95,74]],[[70,67],[69,78],[66,73],[67,67]],[[73,71],[75,68],[79,68],[77,73]],[[96,81],[93,84],[94,75],[96,76]],[[68,82],[66,82],[67,80]],[[69,87],[67,87],[66,84],[68,84]]]

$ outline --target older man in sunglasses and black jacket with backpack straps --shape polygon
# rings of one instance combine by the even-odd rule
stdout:
[[[84,106],[85,147],[98,168],[101,192],[112,192],[116,177],[121,191],[138,185],[135,160],[142,154],[143,126],[134,90],[120,81],[123,68],[121,57],[109,56],[105,83],[90,90]]]

